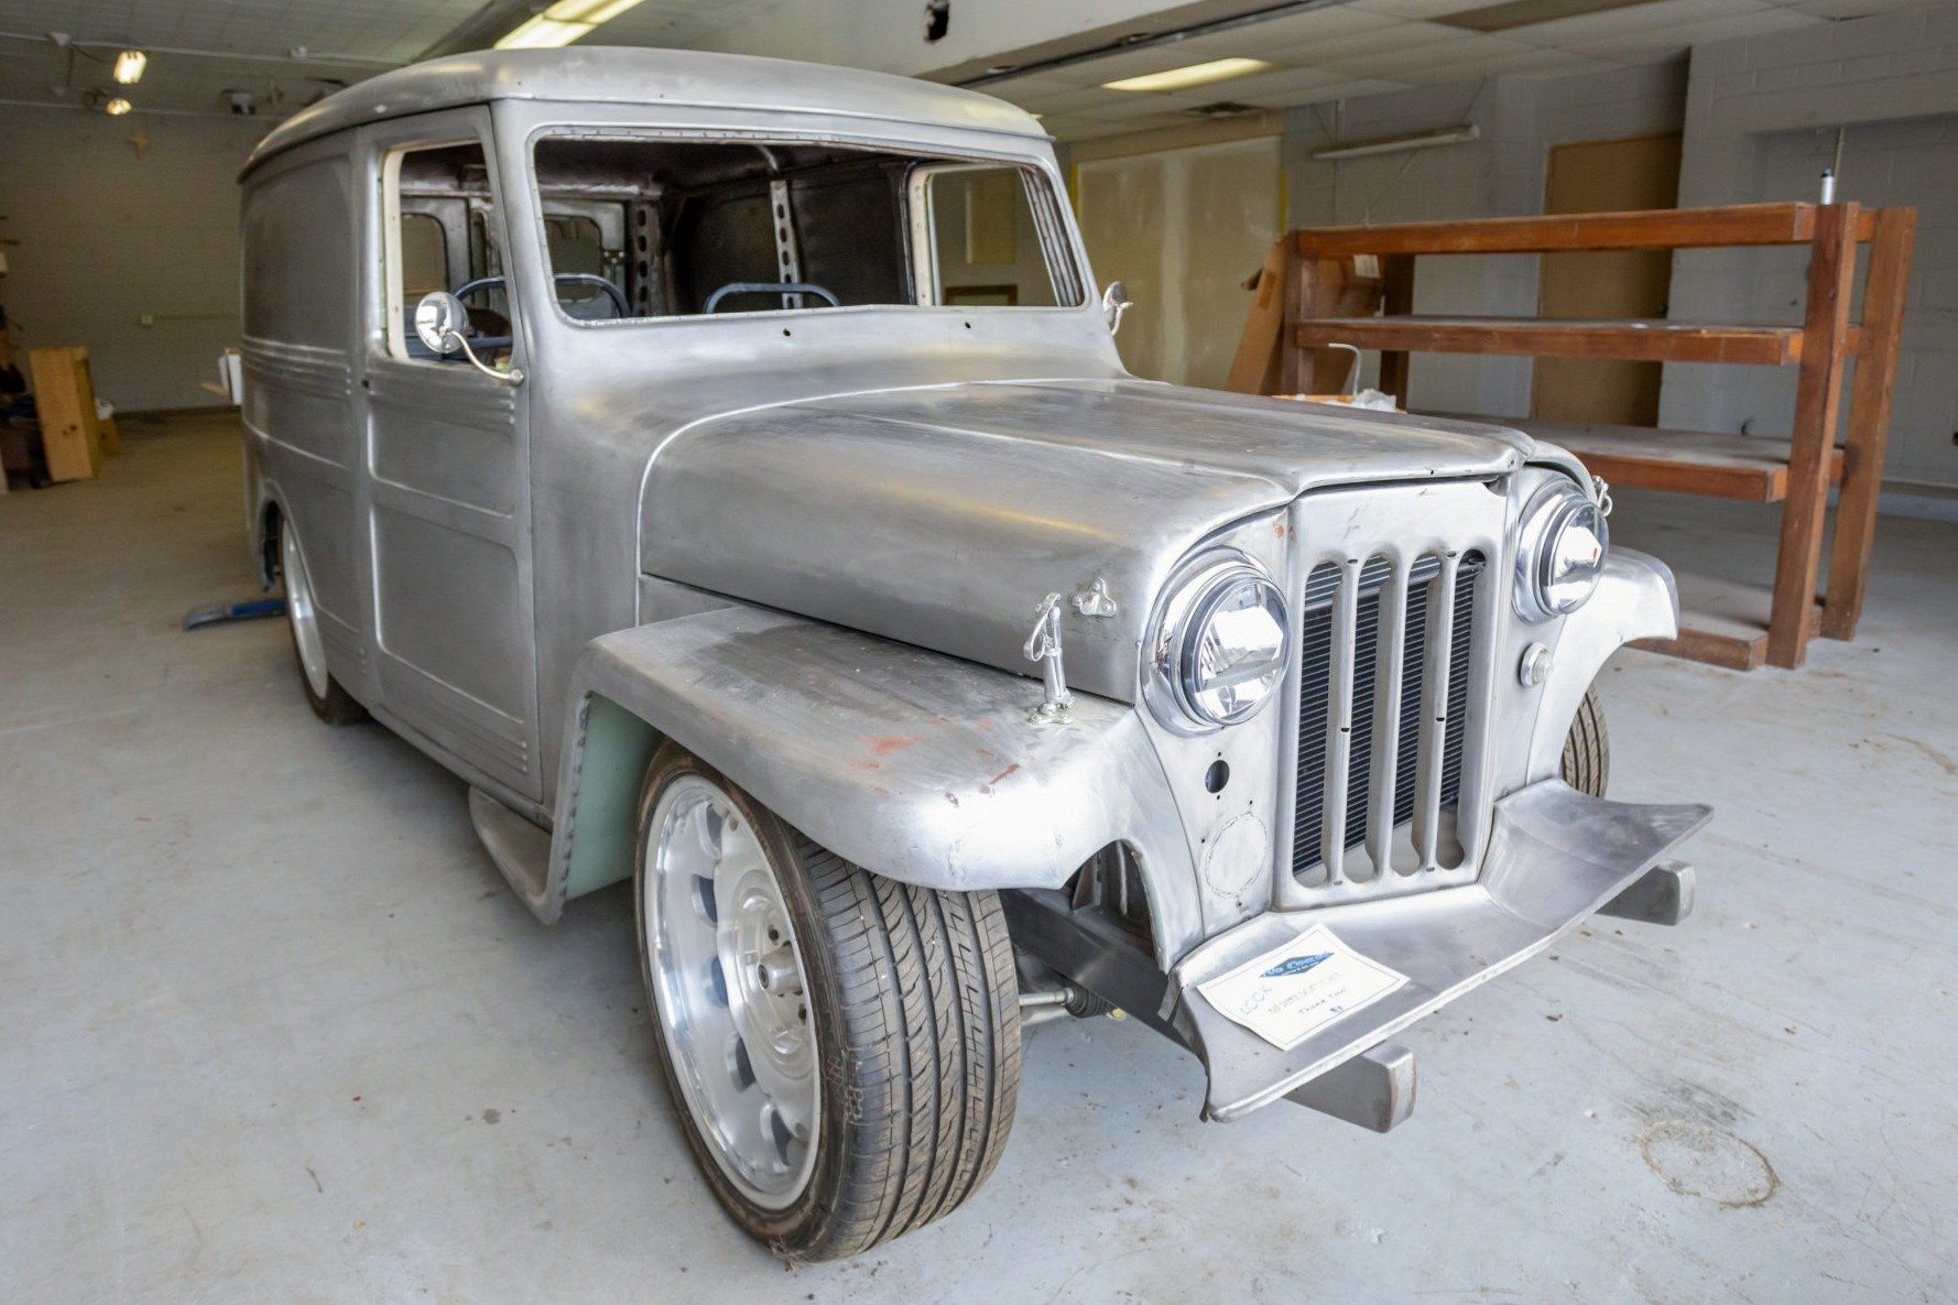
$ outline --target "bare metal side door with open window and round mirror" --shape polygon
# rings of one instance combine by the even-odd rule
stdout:
[[[523,388],[413,333],[433,282],[501,276],[501,178],[486,110],[368,127],[368,347],[360,511],[372,576],[374,696],[390,725],[472,780],[542,798],[531,574],[531,449]],[[466,300],[470,343],[521,368],[515,296]]]

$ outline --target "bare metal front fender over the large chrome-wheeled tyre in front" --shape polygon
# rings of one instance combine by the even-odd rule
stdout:
[[[1075,696],[1036,725],[1024,676],[750,605],[585,645],[540,915],[632,872],[644,758],[672,739],[799,831],[944,890],[1059,888],[1096,850],[1179,850],[1136,709]],[[1187,858],[1187,854],[1183,854]]]

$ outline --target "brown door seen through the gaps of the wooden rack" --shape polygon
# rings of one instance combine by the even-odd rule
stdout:
[[[1551,149],[1545,214],[1672,208],[1680,137],[1641,135]],[[1545,317],[1664,317],[1672,255],[1664,249],[1543,255]],[[1531,415],[1539,421],[1658,423],[1658,362],[1537,359]]]

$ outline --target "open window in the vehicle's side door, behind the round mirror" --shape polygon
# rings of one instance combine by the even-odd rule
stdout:
[[[462,304],[470,312],[470,345],[495,366],[509,359],[509,296],[495,249],[495,196],[490,190],[490,163],[480,141],[401,149],[388,155],[382,182],[388,206],[384,243],[384,284],[388,351],[397,359],[433,359],[415,337],[415,304],[431,290],[462,290],[476,284]],[[450,239],[466,233],[468,276],[452,284],[456,263]],[[491,278],[490,284],[480,284]],[[460,355],[444,361],[460,362]]]

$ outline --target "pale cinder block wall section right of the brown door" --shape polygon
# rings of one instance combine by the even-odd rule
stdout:
[[[1958,488],[1958,6],[1694,49],[1680,204],[1811,200],[1842,129],[1837,196],[1917,208],[1886,480]],[[1680,253],[1672,312],[1795,321],[1801,251]],[[1660,421],[1786,437],[1794,382],[1668,366]]]

